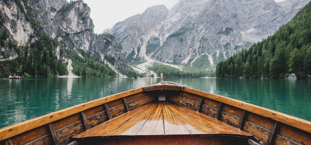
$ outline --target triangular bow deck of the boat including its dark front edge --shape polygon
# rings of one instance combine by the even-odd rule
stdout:
[[[73,138],[94,144],[193,144],[193,141],[198,144],[239,144],[250,136],[211,116],[159,101],[124,113]]]

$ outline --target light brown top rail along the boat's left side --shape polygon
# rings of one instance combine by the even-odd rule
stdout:
[[[90,102],[82,103],[76,106],[72,106],[66,109],[62,109],[60,111],[52,112],[44,116],[36,117],[31,120],[27,120],[27,121],[24,121],[24,122],[21,122],[21,123],[12,125],[12,126],[2,128],[0,129],[0,140],[5,140],[17,134],[24,133],[28,130],[35,129],[39,126],[47,125],[53,121],[65,118],[67,116],[71,116],[73,114],[90,109],[92,107],[99,106],[104,103],[107,103],[107,102],[110,102],[110,101],[113,101],[113,100],[116,100],[122,97],[140,93],[142,91],[143,91],[143,88],[137,88],[137,89],[129,90],[126,92],[110,95],[107,97],[103,97],[103,98],[96,99]]]

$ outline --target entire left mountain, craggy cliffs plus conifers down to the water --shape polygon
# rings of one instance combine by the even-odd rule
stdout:
[[[91,9],[81,0],[0,0],[0,7],[3,76],[65,75],[69,59],[80,76],[125,75],[130,70],[117,39],[94,34]]]

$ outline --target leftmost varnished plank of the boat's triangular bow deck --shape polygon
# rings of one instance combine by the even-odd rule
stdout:
[[[86,138],[86,137],[93,137],[93,136],[109,136],[115,130],[119,129],[121,126],[128,123],[130,120],[132,120],[136,116],[139,116],[139,114],[141,114],[143,112],[148,112],[148,110],[152,106],[156,106],[156,105],[155,104],[148,104],[148,105],[139,107],[139,108],[135,109],[135,111],[137,111],[138,114],[132,113],[131,111],[129,111],[128,113],[124,114],[123,116],[118,116],[116,118],[108,120],[108,121],[106,121],[100,125],[97,125],[91,129],[87,130],[87,131],[84,131],[80,134],[77,134],[77,135],[73,136],[72,138]]]

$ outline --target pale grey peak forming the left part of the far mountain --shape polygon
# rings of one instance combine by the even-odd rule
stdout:
[[[104,33],[111,33],[122,43],[126,54],[134,51],[136,58],[139,55],[144,57],[149,38],[154,31],[159,31],[159,25],[165,19],[168,9],[164,5],[152,6],[146,9],[142,14],[131,16],[122,22],[118,22],[112,29],[106,29]],[[124,33],[128,32],[128,33]]]

